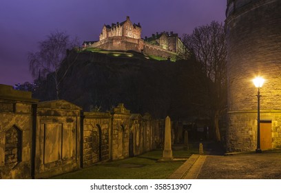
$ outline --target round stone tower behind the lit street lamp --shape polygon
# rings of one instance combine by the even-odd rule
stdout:
[[[256,150],[257,89],[260,90],[260,145],[281,147],[281,1],[227,1],[227,151]]]

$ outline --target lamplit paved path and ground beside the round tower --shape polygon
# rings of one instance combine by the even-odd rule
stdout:
[[[281,179],[281,149],[261,154],[220,153],[209,150],[204,155],[193,154],[169,179]]]

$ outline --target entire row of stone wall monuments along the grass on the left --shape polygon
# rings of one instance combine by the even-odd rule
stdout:
[[[45,179],[101,161],[161,148],[163,120],[112,112],[81,112],[64,100],[38,102],[31,92],[0,85],[0,179]]]

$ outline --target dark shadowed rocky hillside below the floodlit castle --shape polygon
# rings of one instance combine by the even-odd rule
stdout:
[[[61,99],[84,110],[96,107],[106,111],[124,103],[133,113],[187,119],[207,114],[206,82],[198,64],[192,61],[155,61],[87,52],[79,54],[63,79]]]

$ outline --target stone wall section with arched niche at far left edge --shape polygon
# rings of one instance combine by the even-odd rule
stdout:
[[[0,179],[30,179],[32,153],[30,92],[0,85]]]

